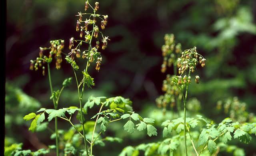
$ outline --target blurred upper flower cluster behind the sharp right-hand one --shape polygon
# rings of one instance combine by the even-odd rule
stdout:
[[[180,54],[181,44],[175,44],[174,34],[166,34],[164,36],[165,44],[162,46],[162,56],[164,57],[161,72],[166,72],[167,66],[170,67],[172,64],[176,65],[176,54]]]

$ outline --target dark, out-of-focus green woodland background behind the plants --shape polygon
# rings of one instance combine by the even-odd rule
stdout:
[[[192,83],[189,88],[190,114],[204,114],[220,122],[230,114],[228,111],[221,112],[216,106],[220,106],[220,101],[225,103],[225,100],[233,99],[234,96],[246,104],[248,113],[242,116],[249,118],[250,113],[256,111],[256,1],[99,2],[100,13],[108,14],[109,17],[104,34],[109,36],[110,42],[102,52],[100,72],[90,71],[96,86],[86,90],[84,96],[120,95],[130,98],[134,110],[156,119],[160,131],[157,137],[151,138],[143,132],[129,135],[120,131],[122,124],[114,123],[107,133],[123,138],[123,143],[98,147],[100,151],[95,150],[99,152],[96,155],[101,152],[117,155],[125,146],[159,140],[162,138],[161,122],[178,117],[176,110],[168,110],[163,115],[155,104],[155,99],[162,94],[162,80],[166,77],[166,74],[160,72],[161,46],[166,33],[173,33],[176,41],[182,44],[182,49],[197,46],[198,52],[207,60],[206,68],[198,69],[200,84]],[[38,110],[40,106],[52,108],[48,79],[42,76],[41,71],[30,71],[29,61],[38,56],[40,46],[48,46],[49,41],[54,39],[64,39],[64,51],[68,53],[68,39],[72,36],[78,38],[79,35],[75,30],[75,15],[81,10],[84,10],[83,0],[7,1],[6,145],[23,142],[23,148],[37,150],[54,144],[54,140],[48,137],[50,132],[28,132],[29,123],[21,118],[28,112]],[[73,76],[66,63],[60,70],[53,66],[52,70],[55,89],[60,88],[64,78]],[[169,69],[167,73],[173,74],[173,71]],[[84,102],[87,98],[84,98]],[[64,90],[59,103],[60,107],[66,107],[77,105],[77,102],[73,83],[69,89]],[[67,124],[61,121],[60,128],[68,129]],[[245,148],[248,155],[256,154],[255,137],[249,145],[232,143]]]

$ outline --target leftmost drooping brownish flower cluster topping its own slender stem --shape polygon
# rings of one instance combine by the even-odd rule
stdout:
[[[40,47],[39,48],[39,57],[36,60],[30,60],[30,70],[38,70],[38,67],[42,67],[42,74],[45,75],[45,63],[52,62],[52,57],[56,60],[56,69],[60,69],[60,64],[62,62],[62,50],[64,48],[64,40],[51,40],[51,46]],[[49,52],[50,51],[50,52]]]

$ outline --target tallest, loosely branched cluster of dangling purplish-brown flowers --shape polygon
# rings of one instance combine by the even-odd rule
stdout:
[[[74,37],[69,40],[69,49],[71,50],[68,53],[68,56],[74,60],[75,58],[80,58],[82,56],[83,59],[87,59],[88,66],[91,63],[96,61],[96,70],[100,70],[100,64],[102,62],[102,57],[98,50],[100,49],[100,41],[102,42],[101,48],[105,50],[108,44],[108,36],[104,36],[100,31],[100,28],[105,29],[108,23],[108,15],[100,15],[96,14],[96,11],[99,9],[99,2],[96,2],[94,8],[90,5],[88,0],[85,2],[84,10],[88,10],[88,8],[92,8],[93,13],[82,13],[78,12],[76,16],[78,16],[78,20],[76,22],[76,31],[80,31],[81,40],[75,40]],[[83,16],[87,16],[86,19],[83,19]],[[97,20],[102,20],[100,22],[100,26],[97,26]],[[102,37],[100,40],[99,38]],[[95,46],[92,46],[92,43],[95,40]],[[74,42],[79,42],[76,47],[74,47]],[[81,53],[80,46],[82,43],[88,44],[88,50],[84,50]],[[74,48],[73,48],[74,47]]]

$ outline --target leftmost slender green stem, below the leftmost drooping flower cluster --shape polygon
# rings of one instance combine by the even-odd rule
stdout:
[[[52,90],[52,80],[51,80],[51,72],[50,72],[50,64],[47,63],[47,68],[48,68],[48,77],[49,77],[49,83],[50,83],[50,89],[51,89],[51,93],[53,93]],[[55,99],[52,98],[52,102],[54,104],[54,109],[57,109],[57,104],[55,103]],[[59,143],[58,143],[58,120],[57,117],[55,117],[55,134],[56,134],[56,156],[59,156]]]

